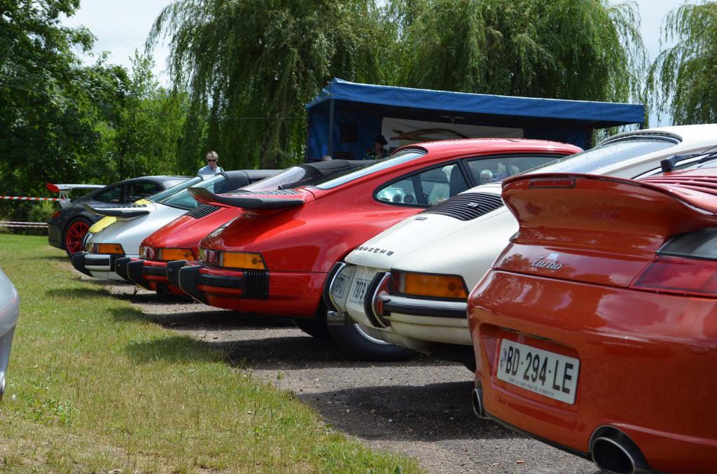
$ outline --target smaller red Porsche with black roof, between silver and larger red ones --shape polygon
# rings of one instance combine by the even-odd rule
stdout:
[[[290,166],[280,174],[244,186],[235,193],[249,196],[256,192],[291,189],[327,179],[335,174],[366,166],[368,161],[331,160]],[[136,285],[158,293],[186,295],[167,279],[167,262],[172,260],[195,260],[199,241],[220,225],[234,219],[243,211],[238,207],[199,206],[174,219],[146,237],[140,246],[141,258],[124,257],[115,261],[115,271],[120,277]]]

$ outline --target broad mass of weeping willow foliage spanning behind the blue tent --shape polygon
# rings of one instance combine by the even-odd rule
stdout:
[[[300,159],[303,105],[332,77],[640,100],[639,24],[634,2],[607,0],[179,0],[148,47],[169,39],[171,75],[191,95],[185,165],[216,149],[224,166],[270,167]]]

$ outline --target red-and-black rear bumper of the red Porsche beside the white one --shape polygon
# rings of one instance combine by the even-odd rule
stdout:
[[[315,316],[325,273],[226,270],[170,262],[167,274],[184,293],[217,308],[279,316]]]

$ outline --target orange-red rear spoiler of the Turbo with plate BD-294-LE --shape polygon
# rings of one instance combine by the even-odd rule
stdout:
[[[511,241],[573,241],[594,248],[602,242],[614,248],[635,234],[647,248],[673,234],[714,227],[717,176],[700,171],[671,183],[587,174],[508,178],[503,201],[521,227]]]

